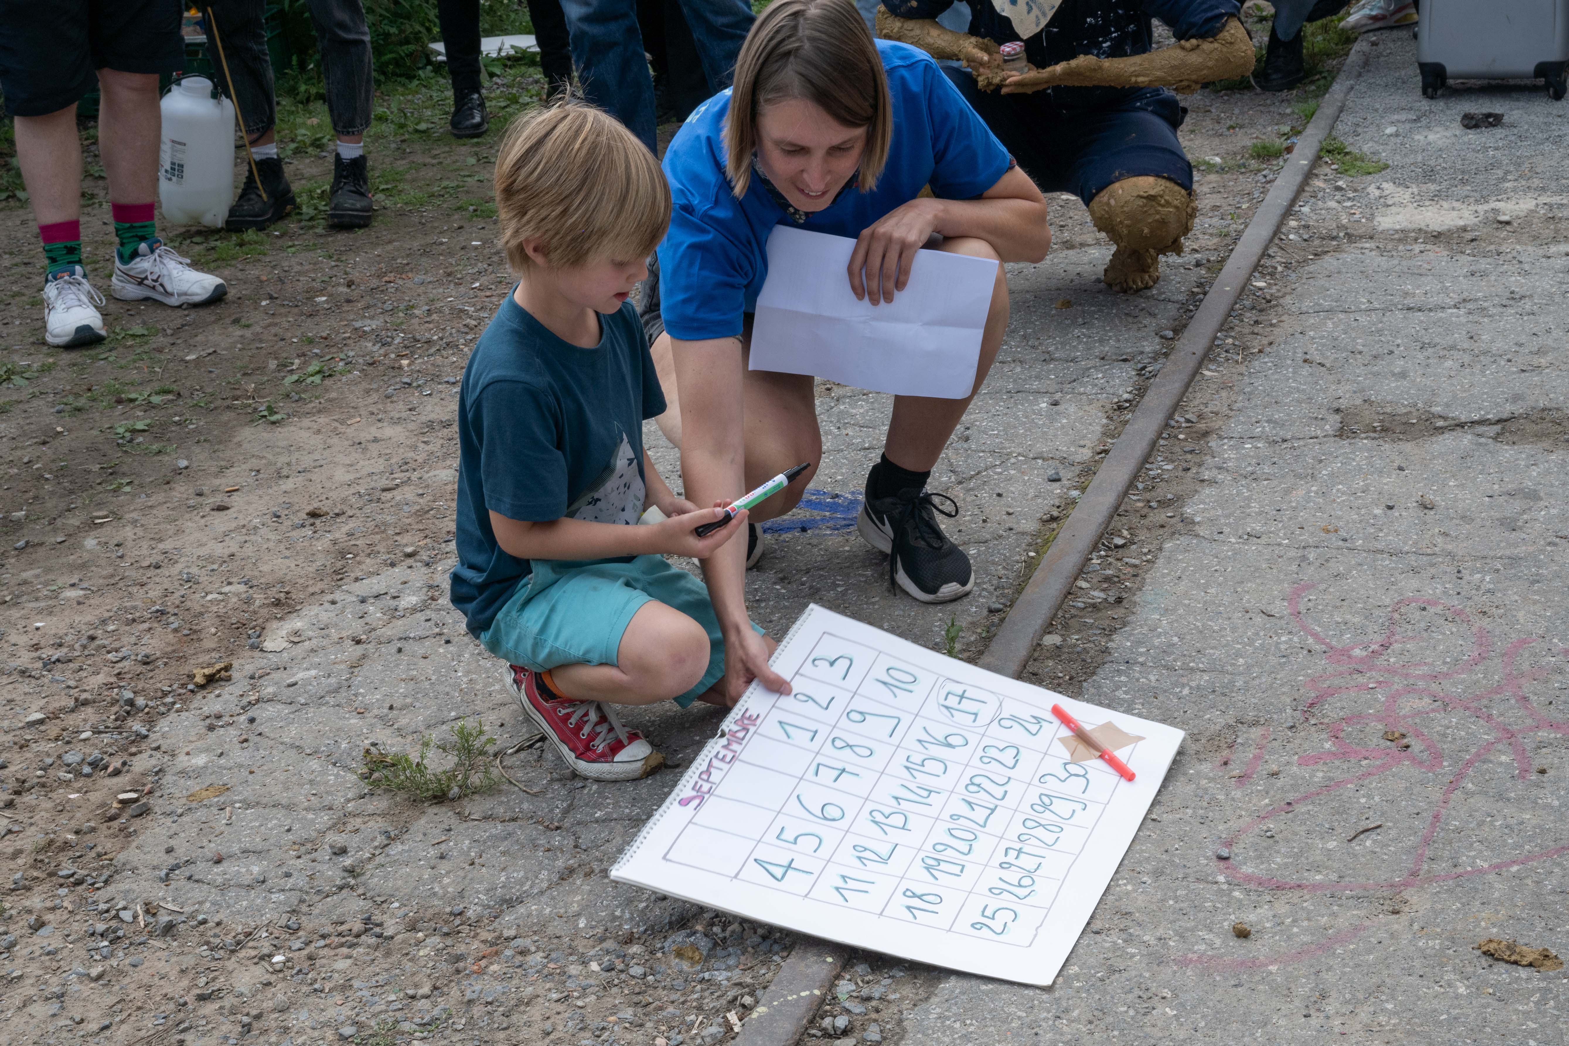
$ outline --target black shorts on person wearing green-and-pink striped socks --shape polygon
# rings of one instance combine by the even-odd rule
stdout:
[[[6,116],[49,116],[97,86],[97,69],[185,67],[179,0],[0,0]]]

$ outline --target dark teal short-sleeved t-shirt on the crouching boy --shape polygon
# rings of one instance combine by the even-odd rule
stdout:
[[[643,420],[664,414],[665,397],[632,304],[601,315],[599,331],[593,348],[563,342],[508,293],[469,356],[452,605],[475,637],[530,572],[496,543],[491,511],[609,524],[643,513]]]

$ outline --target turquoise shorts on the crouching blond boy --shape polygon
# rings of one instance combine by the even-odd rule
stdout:
[[[725,674],[725,637],[708,585],[662,555],[631,563],[533,560],[533,572],[480,637],[496,657],[533,671],[562,665],[613,665],[621,635],[645,602],[679,610],[708,632],[708,671],[676,698],[683,709]],[[763,629],[752,626],[761,635]]]

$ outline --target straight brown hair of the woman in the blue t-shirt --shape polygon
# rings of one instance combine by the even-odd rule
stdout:
[[[752,180],[758,113],[786,99],[866,129],[857,188],[871,191],[888,162],[893,105],[877,44],[852,0],[774,0],[747,33],[725,121],[725,168],[737,198]]]

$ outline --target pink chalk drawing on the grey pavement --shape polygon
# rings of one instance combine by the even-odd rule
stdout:
[[[1500,872],[1569,853],[1569,844],[1561,844],[1530,853],[1495,855],[1498,859],[1475,867],[1445,872],[1428,869],[1429,848],[1443,830],[1445,819],[1451,814],[1456,792],[1467,784],[1478,764],[1502,748],[1513,756],[1514,775],[1525,781],[1533,772],[1528,745],[1536,743],[1542,735],[1569,737],[1569,721],[1553,718],[1527,693],[1527,685],[1547,671],[1545,666],[1527,668],[1522,665],[1530,648],[1542,640],[1514,640],[1497,649],[1487,629],[1478,624],[1465,608],[1442,599],[1406,596],[1396,599],[1390,607],[1384,635],[1335,645],[1309,623],[1302,610],[1302,597],[1313,588],[1313,582],[1304,582],[1293,588],[1287,597],[1287,610],[1302,634],[1324,648],[1324,659],[1331,665],[1331,671],[1313,676],[1304,684],[1312,696],[1302,709],[1305,720],[1327,729],[1329,750],[1299,756],[1296,762],[1304,768],[1340,764],[1351,767],[1351,772],[1337,781],[1263,811],[1227,839],[1225,845],[1235,853],[1240,844],[1274,819],[1301,811],[1307,803],[1340,789],[1404,767],[1443,781],[1443,787],[1431,811],[1426,811],[1426,825],[1414,850],[1400,858],[1409,863],[1400,869],[1403,873],[1392,878],[1371,881],[1277,878],[1243,870],[1241,861],[1233,856],[1230,861],[1216,861],[1227,880],[1260,889],[1305,892],[1407,889]],[[1401,660],[1403,648],[1425,640],[1422,635],[1401,630],[1401,615],[1423,607],[1442,615],[1445,624],[1467,634],[1469,651],[1464,657],[1448,665]],[[1558,654],[1569,656],[1569,648],[1560,649]],[[1491,681],[1483,677],[1484,668],[1495,673]],[[1370,703],[1368,698],[1373,701]],[[1315,720],[1315,710],[1323,710],[1321,706],[1332,701],[1349,706],[1348,714]],[[1481,729],[1481,743],[1469,751],[1456,751],[1453,745],[1445,751],[1437,731],[1432,729],[1432,725],[1437,723],[1434,717],[1456,714],[1472,717],[1472,725]],[[1373,737],[1379,737],[1381,731],[1406,734],[1409,748],[1398,748],[1387,742],[1359,743],[1348,737],[1348,734],[1367,735],[1370,732]],[[1247,778],[1252,776],[1263,757],[1265,740],[1268,735],[1260,740],[1249,761]],[[1363,762],[1367,765],[1362,765]]]

